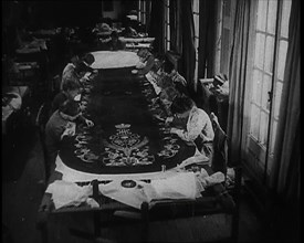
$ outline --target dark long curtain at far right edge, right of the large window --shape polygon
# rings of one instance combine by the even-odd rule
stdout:
[[[270,188],[286,201],[300,198],[300,1],[293,0],[289,50]]]

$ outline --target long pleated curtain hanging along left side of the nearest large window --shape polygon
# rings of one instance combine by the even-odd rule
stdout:
[[[241,160],[241,145],[244,117],[244,91],[247,85],[248,46],[251,1],[238,0],[233,27],[232,49],[229,66],[229,114],[227,135],[229,141],[229,165]]]

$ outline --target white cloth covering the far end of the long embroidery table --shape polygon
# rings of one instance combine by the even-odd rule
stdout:
[[[92,68],[119,68],[136,66],[139,56],[135,52],[129,51],[97,51],[91,52],[95,61]]]

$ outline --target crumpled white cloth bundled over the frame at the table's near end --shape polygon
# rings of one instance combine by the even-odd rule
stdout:
[[[114,179],[109,183],[98,184],[98,190],[106,197],[125,203],[129,207],[140,209],[143,202],[147,202],[151,208],[159,200],[195,200],[200,198],[200,192],[207,187],[224,181],[222,172],[208,176],[205,169],[201,169],[200,179],[195,172],[181,171],[174,176],[161,179],[154,179],[150,183],[135,180],[135,186],[125,188],[122,186],[122,179]],[[80,205],[86,202],[92,208],[97,208],[97,202],[92,199],[93,187],[91,184],[80,187],[76,183],[56,180],[51,183],[48,193],[52,194],[55,209],[67,205]]]

